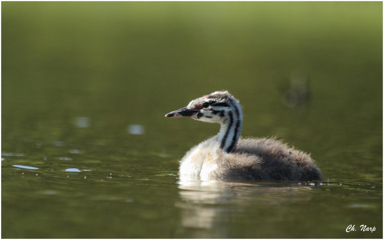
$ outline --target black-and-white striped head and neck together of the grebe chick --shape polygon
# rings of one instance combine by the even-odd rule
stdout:
[[[220,123],[218,141],[227,152],[235,148],[243,122],[238,100],[227,91],[212,92],[192,100],[187,107],[170,112],[166,117],[190,117],[203,122]]]

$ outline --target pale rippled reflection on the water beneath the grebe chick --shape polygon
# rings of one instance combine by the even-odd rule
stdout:
[[[231,223],[245,211],[292,201],[309,201],[311,186],[289,182],[179,181],[181,224],[177,235],[230,238]],[[246,212],[245,212],[246,214]]]

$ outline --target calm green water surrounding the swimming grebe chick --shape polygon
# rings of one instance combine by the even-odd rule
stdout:
[[[222,89],[324,182],[179,182]],[[3,238],[382,238],[382,3],[3,2],[1,142]]]

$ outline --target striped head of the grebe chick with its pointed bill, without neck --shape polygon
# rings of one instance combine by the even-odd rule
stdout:
[[[210,123],[229,122],[233,117],[242,118],[238,101],[227,91],[212,92],[190,101],[187,107],[167,113],[166,117],[190,117]]]

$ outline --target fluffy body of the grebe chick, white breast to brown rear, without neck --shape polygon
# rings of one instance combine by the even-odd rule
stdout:
[[[236,149],[226,153],[215,136],[185,154],[180,178],[321,181],[322,174],[308,154],[274,138],[240,138]]]

